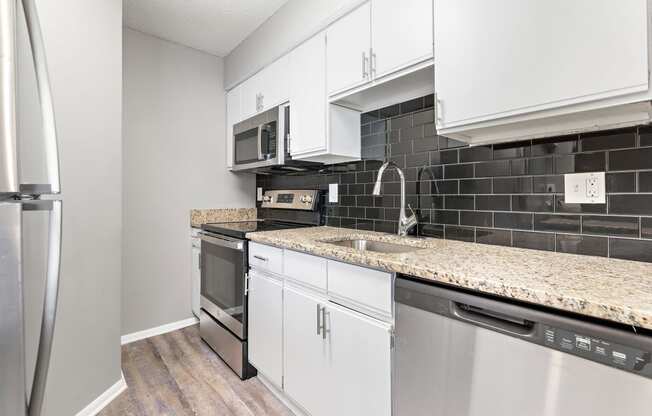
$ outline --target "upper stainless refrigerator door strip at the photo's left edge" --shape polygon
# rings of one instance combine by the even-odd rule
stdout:
[[[16,2],[0,2],[0,193],[18,193]]]

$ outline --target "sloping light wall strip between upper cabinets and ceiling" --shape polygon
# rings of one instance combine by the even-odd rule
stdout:
[[[233,88],[364,0],[290,0],[225,58]]]

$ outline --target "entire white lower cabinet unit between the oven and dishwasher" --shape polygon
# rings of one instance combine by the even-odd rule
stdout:
[[[393,276],[309,254],[252,246],[268,258],[265,263],[250,263],[249,358],[254,367],[299,413],[390,416],[392,308],[376,313],[384,309],[384,295],[380,307],[375,296],[352,292],[383,293]],[[282,274],[265,268],[279,262]],[[297,278],[294,269],[320,278]],[[343,300],[350,300],[350,305],[344,303],[350,307],[334,303],[341,302],[340,297],[326,290],[331,277],[336,281],[343,274],[360,282],[357,291],[340,293]]]

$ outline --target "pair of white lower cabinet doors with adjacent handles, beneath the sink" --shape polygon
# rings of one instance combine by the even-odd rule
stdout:
[[[391,329],[286,287],[286,393],[313,416],[391,415]]]

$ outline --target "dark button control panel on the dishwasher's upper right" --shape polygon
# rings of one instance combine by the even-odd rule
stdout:
[[[543,325],[543,345],[652,378],[652,352]]]

